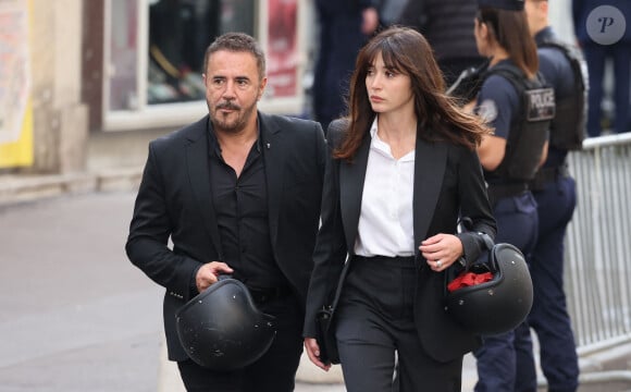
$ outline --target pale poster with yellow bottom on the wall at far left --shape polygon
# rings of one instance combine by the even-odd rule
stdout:
[[[28,0],[0,0],[0,168],[33,164]]]

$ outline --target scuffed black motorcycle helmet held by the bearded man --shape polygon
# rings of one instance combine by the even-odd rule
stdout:
[[[176,314],[180,342],[198,365],[243,368],[259,359],[276,335],[274,317],[257,309],[248,289],[222,277]]]

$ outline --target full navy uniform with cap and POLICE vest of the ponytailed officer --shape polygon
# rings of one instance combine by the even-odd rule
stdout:
[[[479,5],[522,11],[524,3],[523,0],[479,0]],[[537,206],[529,183],[539,166],[555,107],[554,90],[544,87],[539,76],[530,81],[510,59],[503,60],[487,71],[475,109],[495,130],[494,135],[506,139],[503,161],[494,171],[484,172],[497,221],[495,241],[517,246],[527,257],[535,247],[539,231]],[[540,103],[543,103],[541,108]],[[546,107],[549,111],[544,113]],[[537,114],[540,109],[545,115]],[[528,321],[512,331],[483,338],[483,345],[473,352],[478,366],[474,390],[536,391]]]

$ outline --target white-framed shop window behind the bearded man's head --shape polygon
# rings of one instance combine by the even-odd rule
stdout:
[[[98,103],[103,130],[180,126],[203,115],[203,54],[227,32],[257,37],[265,51],[268,86],[261,110],[305,113],[301,77],[312,45],[305,39],[311,38],[307,33],[313,25],[310,1],[102,1],[103,83]]]

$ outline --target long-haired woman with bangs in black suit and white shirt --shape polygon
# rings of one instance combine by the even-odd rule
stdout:
[[[475,152],[488,131],[444,90],[421,34],[383,30],[358,56],[348,118],[329,130],[304,334],[327,370],[316,315],[342,277],[334,328],[351,392],[391,391],[395,353],[400,391],[460,391],[462,356],[479,345],[443,295],[445,271],[480,256],[480,233],[495,236]],[[459,217],[471,232],[457,232]]]

